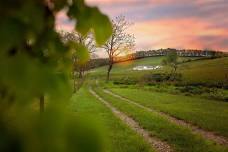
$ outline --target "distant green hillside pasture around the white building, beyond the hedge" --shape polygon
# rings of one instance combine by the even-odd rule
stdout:
[[[181,57],[179,60],[186,60],[190,57]],[[128,62],[114,64],[111,71],[111,79],[132,77],[139,79],[147,73],[168,72],[169,68],[158,69],[154,71],[134,71],[133,67],[140,65],[161,65],[164,57],[148,57]],[[198,58],[190,58],[192,60]],[[107,72],[107,66],[93,70],[92,76],[104,78]],[[225,75],[228,75],[228,57],[218,59],[197,60],[179,65],[178,72],[182,73],[183,81],[190,83],[221,83],[224,82]],[[227,80],[228,81],[228,80]]]

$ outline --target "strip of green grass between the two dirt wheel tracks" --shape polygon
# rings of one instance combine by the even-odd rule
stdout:
[[[106,101],[136,120],[143,128],[150,131],[152,135],[169,143],[175,151],[221,152],[227,150],[218,145],[214,145],[209,141],[205,141],[198,135],[193,135],[189,129],[170,123],[166,118],[163,118],[156,113],[148,112],[135,105],[121,101],[108,94],[104,94],[101,89],[96,89],[96,91]]]

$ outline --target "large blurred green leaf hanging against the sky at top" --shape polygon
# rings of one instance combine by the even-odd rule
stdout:
[[[76,19],[76,30],[86,35],[90,29],[94,31],[98,45],[104,44],[112,34],[109,18],[97,7],[88,7],[83,0],[75,1],[69,8],[68,16]]]

